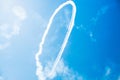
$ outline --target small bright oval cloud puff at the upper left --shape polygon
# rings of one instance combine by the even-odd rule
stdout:
[[[25,20],[27,17],[26,10],[21,6],[14,6],[12,11],[20,20]]]

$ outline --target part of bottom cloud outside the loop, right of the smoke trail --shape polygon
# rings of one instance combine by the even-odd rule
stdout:
[[[83,77],[66,66],[63,60],[59,61],[54,76],[59,76],[62,80],[83,80]]]

